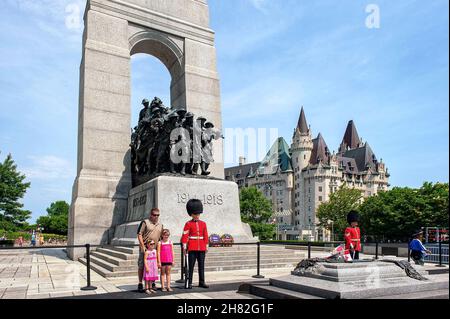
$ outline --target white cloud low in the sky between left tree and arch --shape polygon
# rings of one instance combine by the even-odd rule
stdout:
[[[30,166],[23,169],[29,179],[55,180],[70,179],[75,176],[75,165],[70,161],[53,156],[28,156]]]

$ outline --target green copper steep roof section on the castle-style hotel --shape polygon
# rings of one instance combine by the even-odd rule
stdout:
[[[282,172],[292,170],[289,145],[283,137],[279,137],[273,143],[266,157],[264,157],[258,167],[258,174],[275,174],[278,168]]]

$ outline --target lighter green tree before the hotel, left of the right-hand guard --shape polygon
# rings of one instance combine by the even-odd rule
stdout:
[[[357,210],[362,198],[361,191],[345,185],[330,194],[328,201],[317,208],[319,226],[335,234],[343,234],[347,227],[347,214],[350,210]]]

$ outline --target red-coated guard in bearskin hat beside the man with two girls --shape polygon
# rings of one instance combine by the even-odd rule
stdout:
[[[208,230],[206,223],[200,220],[203,213],[203,204],[199,199],[191,199],[186,204],[190,221],[184,226],[181,242],[185,254],[188,254],[189,276],[186,288],[192,289],[192,276],[195,261],[198,261],[199,287],[209,288],[205,283],[205,255],[208,251]]]

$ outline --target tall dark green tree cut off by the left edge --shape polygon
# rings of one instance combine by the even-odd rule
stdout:
[[[16,230],[25,225],[31,212],[24,210],[19,200],[25,195],[30,183],[25,183],[26,176],[17,171],[11,154],[0,163],[0,227]]]

